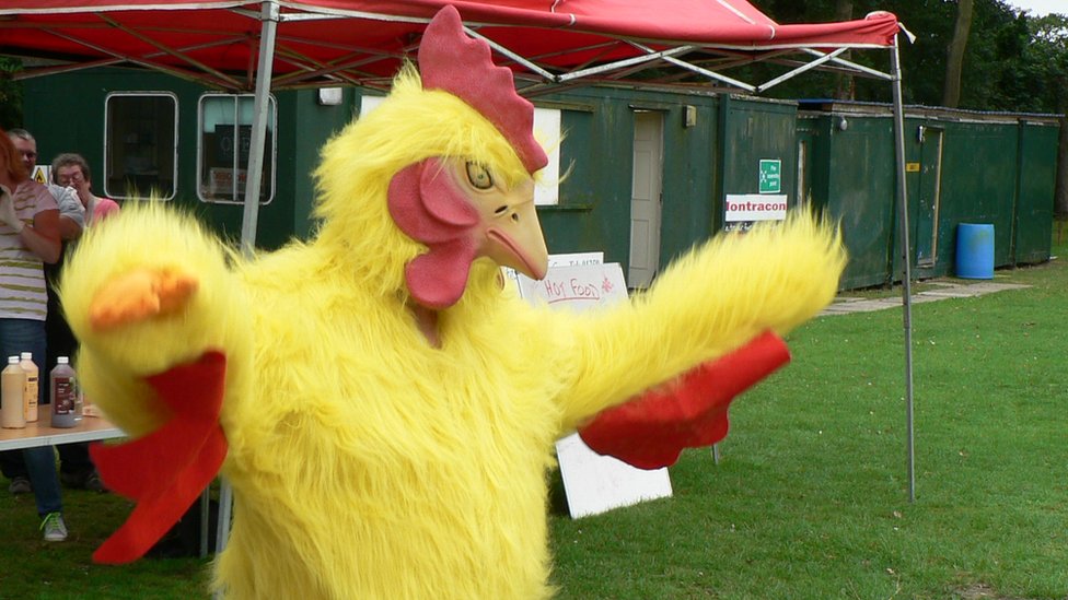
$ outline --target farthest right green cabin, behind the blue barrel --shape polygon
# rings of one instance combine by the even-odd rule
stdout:
[[[844,289],[899,280],[893,119],[886,105],[804,101],[799,148],[812,160],[801,193],[841,220]],[[1048,260],[1058,126],[1055,116],[906,107],[910,266],[955,274],[961,223],[994,225],[994,263]]]

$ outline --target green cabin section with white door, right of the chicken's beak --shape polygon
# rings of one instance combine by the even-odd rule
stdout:
[[[648,285],[716,220],[719,98],[587,87],[535,98],[561,111],[559,203],[539,214],[553,252],[604,251]]]

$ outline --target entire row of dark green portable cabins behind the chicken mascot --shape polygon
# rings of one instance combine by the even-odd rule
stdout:
[[[74,90],[59,93],[58,90]],[[257,245],[314,227],[312,172],[329,136],[364,109],[360,89],[272,95]],[[796,103],[708,87],[599,85],[533,99],[558,150],[538,207],[552,252],[603,251],[642,287],[722,230],[811,205],[843,225],[843,289],[898,278],[890,106]],[[150,191],[240,236],[251,96],[159,73],[91,69],[26,81],[25,127],[40,162],[79,152],[94,190]],[[953,274],[956,225],[990,223],[998,266],[1048,259],[1056,119],[909,108],[906,181],[917,277]],[[1011,151],[1007,151],[1011,149]]]

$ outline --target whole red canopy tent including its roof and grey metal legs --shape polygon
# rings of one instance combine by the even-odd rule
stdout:
[[[651,67],[759,94],[811,69],[885,80],[894,103],[905,308],[909,497],[914,493],[910,273],[904,121],[896,17],[780,25],[745,0],[4,0],[0,54],[55,59],[19,73],[44,75],[138,66],[231,92],[255,91],[242,243],[255,244],[271,90],[336,85],[384,89],[419,44],[425,24],[455,5],[472,36],[511,67],[524,95]],[[855,48],[889,50],[890,72],[846,60]],[[724,73],[774,60],[786,71],[746,83]],[[663,69],[668,67],[669,69]],[[660,82],[646,77],[642,82]],[[662,81],[662,80],[661,80]]]

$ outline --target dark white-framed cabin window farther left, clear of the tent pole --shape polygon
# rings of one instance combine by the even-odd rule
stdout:
[[[170,92],[118,92],[104,104],[104,195],[174,198],[177,97]]]

